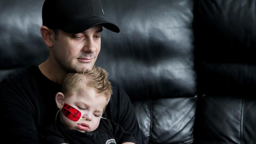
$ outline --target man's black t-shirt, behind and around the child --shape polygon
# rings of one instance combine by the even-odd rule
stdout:
[[[126,92],[111,82],[113,95],[103,114],[143,144],[139,124]],[[39,144],[38,129],[55,122],[55,95],[61,85],[46,78],[37,65],[0,83],[2,138],[9,143]]]

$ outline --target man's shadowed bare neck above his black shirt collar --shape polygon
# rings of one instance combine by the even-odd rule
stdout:
[[[49,59],[47,59],[44,63],[41,63],[38,67],[42,74],[48,79],[62,85],[63,79],[67,73],[61,70],[61,68],[54,66]]]

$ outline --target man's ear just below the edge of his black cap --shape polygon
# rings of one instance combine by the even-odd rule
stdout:
[[[54,31],[47,28],[46,26],[41,26],[40,31],[45,44],[48,47],[52,47],[54,41]]]

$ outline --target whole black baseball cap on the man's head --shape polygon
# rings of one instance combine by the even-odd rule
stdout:
[[[98,24],[116,33],[120,31],[104,18],[100,0],[45,0],[42,19],[43,26],[67,33],[80,33]]]

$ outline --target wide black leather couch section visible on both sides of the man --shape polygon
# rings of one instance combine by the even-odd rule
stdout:
[[[0,81],[48,56],[43,0],[0,0]],[[193,0],[102,0],[121,29],[102,33],[96,62],[124,87],[146,143],[193,142],[196,108]]]

